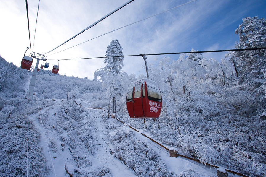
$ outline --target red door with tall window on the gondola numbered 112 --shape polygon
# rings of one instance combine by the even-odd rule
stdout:
[[[133,110],[134,110],[134,116],[137,117],[143,117],[143,108],[142,108],[142,81],[135,84],[134,88],[134,94],[133,94]]]

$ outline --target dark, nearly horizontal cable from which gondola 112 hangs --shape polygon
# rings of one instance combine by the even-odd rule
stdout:
[[[251,51],[251,50],[262,50],[262,49],[266,49],[266,47],[262,47],[262,48],[227,49],[227,50],[216,50],[216,51],[193,51],[193,52],[153,53],[153,54],[139,54],[139,55],[122,55],[122,56],[102,56],[102,57],[79,58],[79,59],[62,59],[62,60],[100,59],[100,58],[111,58],[111,57],[147,56],[147,55],[173,55],[173,54],[183,54],[183,53],[210,53],[210,52],[230,52],[230,51]],[[57,60],[57,59],[50,59],[50,60]]]

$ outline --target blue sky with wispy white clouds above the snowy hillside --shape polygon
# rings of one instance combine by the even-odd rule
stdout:
[[[127,0],[75,2],[40,0],[33,48],[38,0],[28,0],[33,51],[46,53],[52,50],[125,2]],[[49,54],[186,2],[189,0],[135,0]],[[242,23],[242,19],[254,16],[266,18],[265,7],[264,0],[197,0],[66,51],[47,56],[47,59],[104,56],[112,39],[119,40],[124,55],[187,52],[192,48],[198,51],[232,49],[239,39],[238,35],[235,35],[235,30]],[[23,54],[30,46],[25,1],[0,1],[0,16],[0,55],[20,66]],[[220,61],[225,54],[204,53],[203,56]],[[176,60],[179,55],[169,56]],[[148,56],[148,62],[155,63],[154,57]],[[164,55],[157,57],[161,59]],[[103,61],[104,59],[60,61],[59,74],[82,78],[87,76],[93,79],[94,71],[105,66]],[[50,60],[50,66],[53,64],[58,64],[58,61]],[[144,61],[141,56],[125,57],[123,70],[128,74],[145,74],[142,65]]]

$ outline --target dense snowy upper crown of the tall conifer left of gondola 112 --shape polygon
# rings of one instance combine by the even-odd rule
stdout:
[[[123,64],[123,48],[121,47],[119,41],[112,40],[110,45],[107,46],[106,55],[109,58],[105,58],[104,63],[106,63],[106,66],[104,67],[105,70],[110,71],[111,73],[118,74]],[[119,56],[119,57],[110,57],[110,56]]]

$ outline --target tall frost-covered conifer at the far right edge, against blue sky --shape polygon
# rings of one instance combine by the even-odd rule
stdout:
[[[257,16],[243,18],[235,34],[239,35],[235,48],[266,47],[266,20]],[[241,76],[240,83],[263,78],[261,70],[266,67],[266,50],[235,51],[233,59]]]

